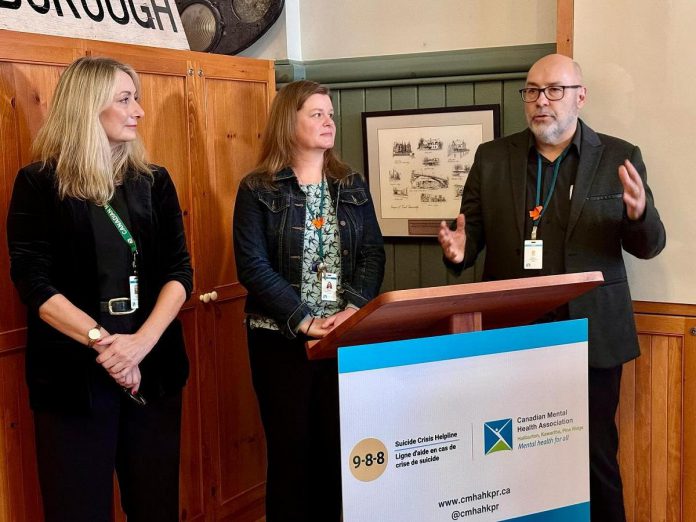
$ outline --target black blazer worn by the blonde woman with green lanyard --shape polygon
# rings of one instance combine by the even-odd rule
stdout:
[[[153,165],[153,178],[128,175],[124,193],[131,233],[139,250],[139,324],[152,311],[168,281],[179,281],[187,297],[193,274],[181,209],[167,171]],[[99,317],[97,258],[85,201],[61,200],[55,173],[40,163],[15,179],[7,218],[10,273],[27,305],[26,376],[32,408],[85,411],[90,407],[89,369],[96,352],[39,318],[39,307],[63,294],[95,319]],[[86,335],[86,332],[85,332]],[[172,322],[140,364],[146,397],[179,390],[188,377],[181,324]]]

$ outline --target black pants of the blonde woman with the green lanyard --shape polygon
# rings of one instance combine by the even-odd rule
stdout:
[[[138,406],[92,373],[91,412],[34,412],[46,522],[110,522],[114,469],[128,522],[176,522],[181,392]]]

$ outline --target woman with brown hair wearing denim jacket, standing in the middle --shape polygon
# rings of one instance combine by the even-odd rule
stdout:
[[[379,292],[384,247],[365,180],[333,151],[329,90],[290,83],[273,101],[259,166],[242,181],[234,247],[266,432],[266,519],[341,517],[335,360],[308,361]]]

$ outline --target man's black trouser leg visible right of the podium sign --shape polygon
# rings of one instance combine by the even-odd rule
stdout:
[[[592,522],[624,522],[623,488],[616,458],[619,436],[615,422],[621,366],[590,368],[588,386],[591,519]]]

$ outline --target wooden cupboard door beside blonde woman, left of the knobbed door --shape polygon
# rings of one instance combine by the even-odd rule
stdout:
[[[193,208],[192,146],[189,137],[190,119],[195,111],[189,104],[189,92],[193,86],[190,53],[166,49],[145,50],[141,47],[95,42],[86,48],[94,56],[109,56],[130,64],[140,76],[140,104],[145,116],[138,131],[145,142],[152,163],[165,167],[176,185],[179,204],[183,213],[189,252],[194,265],[194,291],[184,304],[179,319],[184,324],[186,350],[191,371],[184,388],[181,470],[180,470],[180,518],[186,521],[204,520],[207,512],[207,492],[204,488],[204,446],[201,426],[201,389],[199,376],[198,277],[194,221],[197,212]]]

